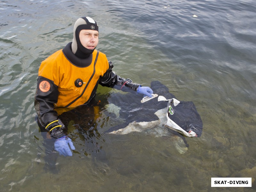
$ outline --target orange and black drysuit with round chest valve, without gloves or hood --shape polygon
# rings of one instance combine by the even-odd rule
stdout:
[[[134,91],[140,86],[116,75],[104,53],[94,50],[90,57],[83,60],[76,57],[71,45],[72,42],[53,53],[39,68],[35,108],[38,124],[47,131],[50,131],[47,129],[49,124],[61,127],[56,121],[58,115],[92,100],[98,84],[108,87],[125,84]],[[54,138],[60,136],[62,132],[56,137],[52,135]]]

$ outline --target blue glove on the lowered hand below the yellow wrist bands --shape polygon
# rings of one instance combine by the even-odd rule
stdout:
[[[73,142],[70,138],[67,136],[63,136],[59,139],[57,139],[54,142],[54,149],[60,153],[60,155],[63,156],[72,156],[72,151],[70,150],[69,146],[72,150],[75,150],[75,147],[73,145]]]

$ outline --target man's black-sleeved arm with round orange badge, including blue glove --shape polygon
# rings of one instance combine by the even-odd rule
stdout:
[[[58,113],[54,110],[54,103],[58,101],[58,86],[53,81],[38,76],[35,95],[35,108],[40,129],[50,132],[55,138],[54,149],[63,156],[72,156],[75,150],[73,142],[66,136],[65,125],[58,119]],[[70,148],[69,148],[70,147]]]

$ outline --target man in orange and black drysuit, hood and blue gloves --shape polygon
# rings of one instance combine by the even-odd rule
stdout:
[[[95,50],[99,41],[97,22],[90,17],[76,20],[73,41],[44,60],[38,71],[35,108],[41,131],[55,138],[54,148],[60,155],[72,156],[75,149],[66,135],[60,114],[80,105],[90,106],[98,84],[121,86],[152,97],[149,87],[134,84],[112,71],[106,55]],[[69,148],[70,147],[70,148]]]

